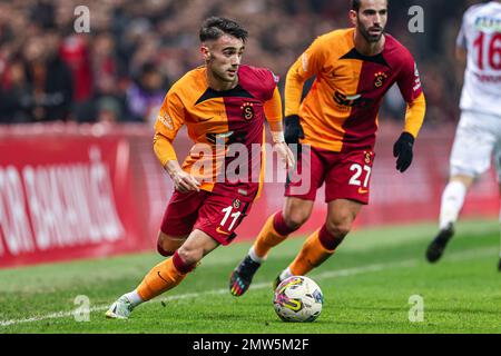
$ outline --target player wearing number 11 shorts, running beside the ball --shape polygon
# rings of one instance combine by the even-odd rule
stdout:
[[[136,306],[176,287],[205,255],[235,238],[259,191],[261,181],[253,178],[262,177],[263,160],[253,155],[254,147],[264,144],[265,119],[274,150],[294,166],[284,141],[277,77],[267,69],[240,65],[247,31],[234,21],[209,18],[199,36],[205,66],[170,88],[155,125],[154,149],[175,187],[157,247],[160,255],[171,257],[115,301],[106,313],[109,318],[128,318]],[[180,167],[173,140],[183,125],[195,146]],[[237,159],[232,155],[235,147],[238,154],[249,155],[250,167],[242,169],[242,177],[227,177],[225,167]],[[258,149],[255,155],[263,154]]]

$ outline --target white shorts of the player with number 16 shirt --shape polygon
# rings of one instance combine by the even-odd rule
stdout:
[[[477,178],[491,167],[492,156],[501,178],[501,116],[463,110],[452,146],[451,176]]]

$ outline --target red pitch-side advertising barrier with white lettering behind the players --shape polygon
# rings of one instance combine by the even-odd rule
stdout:
[[[421,134],[411,169],[395,170],[392,145],[399,128],[380,130],[371,204],[357,227],[436,220],[448,176],[453,127]],[[105,257],[150,250],[173,186],[143,125],[22,125],[0,127],[0,267]],[[190,141],[176,140],[184,158]],[[493,171],[466,199],[463,216],[495,217]],[[283,184],[266,184],[262,198],[237,229],[253,239],[283,204]],[[323,188],[298,234],[325,218]]]

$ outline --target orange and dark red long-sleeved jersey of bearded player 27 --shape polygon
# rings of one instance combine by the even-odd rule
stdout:
[[[372,149],[383,96],[395,82],[407,102],[405,130],[418,136],[425,105],[412,55],[385,33],[383,51],[363,56],[355,49],[354,31],[318,37],[287,73],[285,116],[301,117],[302,144],[332,151]],[[303,85],[313,76],[315,81],[301,102]]]

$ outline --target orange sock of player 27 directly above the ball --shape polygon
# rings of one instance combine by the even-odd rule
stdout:
[[[320,229],[306,239],[299,254],[297,254],[294,261],[288,266],[288,269],[294,276],[306,275],[334,254],[335,249],[328,250],[322,245],[318,233]]]

